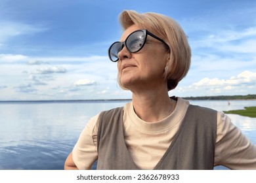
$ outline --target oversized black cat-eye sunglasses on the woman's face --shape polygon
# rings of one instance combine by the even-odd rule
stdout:
[[[128,35],[128,37],[125,39],[124,42],[116,41],[113,44],[111,44],[110,48],[108,48],[108,57],[110,58],[111,61],[114,61],[114,62],[118,61],[119,59],[118,53],[123,49],[124,46],[127,48],[127,50],[130,53],[139,52],[139,50],[143,48],[146,42],[147,35],[150,35],[155,39],[157,39],[158,41],[163,42],[163,44],[165,44],[165,46],[169,48],[168,44],[165,41],[163,41],[163,39],[160,39],[159,37],[150,33],[146,29],[141,29],[141,30],[134,31],[133,33]]]

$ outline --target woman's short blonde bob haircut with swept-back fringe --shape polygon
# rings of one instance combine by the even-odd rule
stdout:
[[[139,25],[151,33],[163,39],[171,50],[167,60],[165,78],[168,90],[173,90],[186,76],[190,68],[191,51],[188,39],[181,26],[173,19],[153,12],[140,14],[134,10],[124,10],[119,15],[119,21],[123,29],[131,25]],[[118,77],[118,83],[121,82]],[[125,88],[123,88],[125,89]]]

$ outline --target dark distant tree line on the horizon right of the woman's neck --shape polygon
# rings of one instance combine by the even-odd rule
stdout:
[[[256,99],[256,95],[220,95],[220,96],[204,96],[204,97],[182,97],[186,100],[249,100]]]

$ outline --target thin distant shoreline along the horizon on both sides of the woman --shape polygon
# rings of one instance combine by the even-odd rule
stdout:
[[[238,101],[238,100],[255,100],[256,95],[220,95],[220,96],[203,96],[203,97],[182,97],[182,99],[191,101]],[[125,102],[131,99],[77,99],[77,100],[7,100],[0,103],[95,103],[95,102]]]

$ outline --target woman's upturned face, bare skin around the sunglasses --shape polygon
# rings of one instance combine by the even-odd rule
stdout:
[[[133,31],[141,29],[137,25],[127,28],[120,41],[123,42]],[[162,42],[148,35],[142,50],[130,53],[123,48],[119,54],[117,63],[119,80],[124,88],[129,90],[143,90],[158,88],[160,84],[167,87],[163,76],[167,64],[167,51]]]

